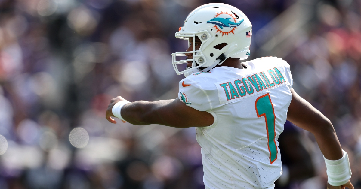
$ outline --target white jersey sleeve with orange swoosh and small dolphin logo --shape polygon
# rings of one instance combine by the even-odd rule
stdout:
[[[179,82],[178,98],[187,106],[198,111],[203,112],[212,109],[209,95],[200,84],[190,78],[184,78]]]

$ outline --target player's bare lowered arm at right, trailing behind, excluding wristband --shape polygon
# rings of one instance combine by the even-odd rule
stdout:
[[[291,93],[292,100],[288,107],[287,120],[302,129],[312,132],[326,159],[341,159],[343,157],[342,148],[331,121],[299,96],[295,90],[291,89]],[[342,186],[331,186],[329,183],[327,183],[327,186],[329,189],[344,188],[344,186],[353,189],[349,181]]]

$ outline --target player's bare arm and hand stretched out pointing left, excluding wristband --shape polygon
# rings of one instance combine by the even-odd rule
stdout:
[[[106,119],[116,123],[111,116],[114,104],[125,100],[121,96],[110,101],[106,111]],[[204,127],[214,122],[214,117],[208,112],[201,112],[187,106],[181,100],[159,100],[156,102],[136,101],[121,108],[121,116],[133,125],[160,124],[171,127]]]

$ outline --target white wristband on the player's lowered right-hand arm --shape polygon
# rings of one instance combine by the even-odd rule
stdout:
[[[329,160],[323,156],[326,162],[328,182],[331,186],[341,186],[346,184],[351,178],[351,167],[348,155],[345,150],[342,150],[342,152],[343,156],[338,160]]]

